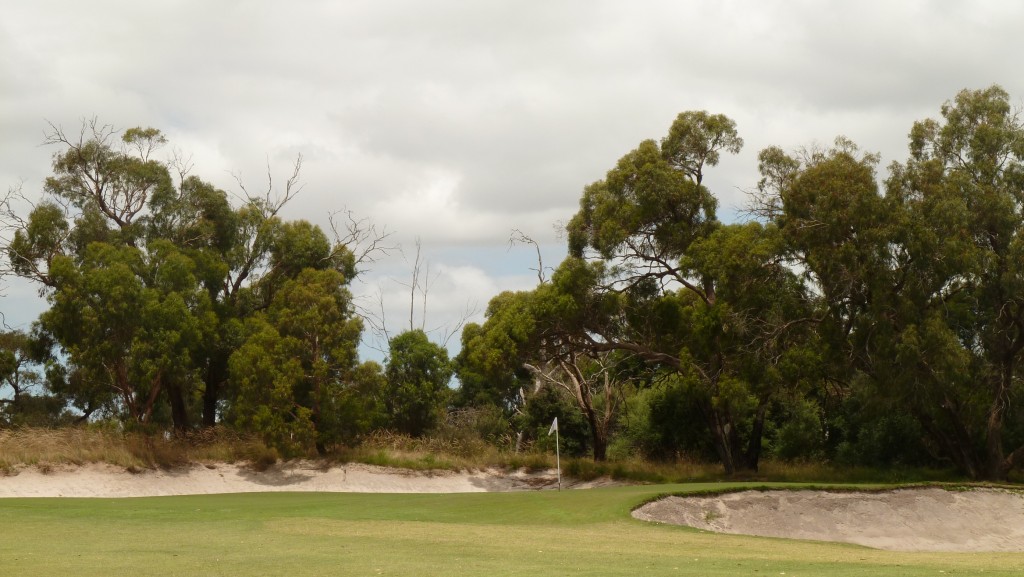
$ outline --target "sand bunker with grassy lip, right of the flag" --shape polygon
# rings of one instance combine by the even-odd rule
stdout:
[[[636,509],[633,517],[720,533],[897,551],[1024,551],[1024,496],[997,489],[745,491],[668,497]]]

